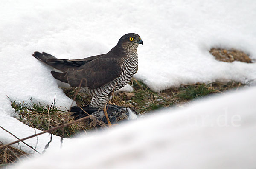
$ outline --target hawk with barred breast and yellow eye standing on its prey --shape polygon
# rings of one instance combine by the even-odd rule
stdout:
[[[51,71],[55,79],[88,91],[92,96],[90,107],[103,109],[108,119],[105,110],[108,95],[124,87],[138,71],[139,44],[143,44],[140,36],[129,33],[106,54],[74,60],[57,59],[45,52],[35,52],[32,56],[61,71]]]

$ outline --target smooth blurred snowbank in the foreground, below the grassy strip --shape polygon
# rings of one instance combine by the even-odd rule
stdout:
[[[256,87],[72,140],[17,169],[255,168]]]

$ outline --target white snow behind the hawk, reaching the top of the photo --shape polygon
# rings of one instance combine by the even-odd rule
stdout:
[[[72,103],[51,68],[31,56],[34,51],[84,58],[108,52],[122,35],[134,32],[143,39],[135,78],[154,91],[216,80],[256,84],[256,63],[219,62],[209,54],[211,47],[236,48],[256,59],[254,0],[10,0],[1,1],[0,15],[0,125],[19,138],[35,131],[13,118],[7,96],[51,104],[56,95],[64,110]],[[39,151],[48,139],[41,136]],[[14,140],[0,129],[0,141]]]

